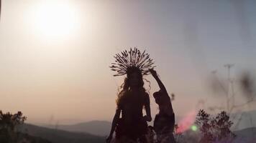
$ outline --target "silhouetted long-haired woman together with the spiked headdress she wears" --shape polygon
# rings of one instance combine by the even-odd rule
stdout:
[[[150,114],[150,97],[143,87],[142,75],[149,71],[145,71],[145,67],[140,66],[140,63],[145,66],[152,61],[151,59],[149,59],[149,62],[145,61],[149,57],[147,55],[145,51],[141,54],[137,49],[130,49],[129,52],[124,51],[122,55],[116,54],[115,56],[116,61],[122,64],[118,63],[119,66],[111,66],[112,70],[119,71],[118,75],[127,74],[127,77],[124,79],[122,91],[119,92],[116,99],[116,114],[106,142],[111,142],[114,132],[116,134],[115,142],[118,143],[147,142],[145,137],[145,134],[147,134],[147,122],[150,122],[152,118]],[[146,110],[145,116],[142,114],[144,107]],[[121,118],[120,114],[122,114]]]

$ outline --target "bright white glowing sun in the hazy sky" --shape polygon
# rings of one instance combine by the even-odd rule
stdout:
[[[36,31],[47,38],[65,38],[79,28],[78,12],[68,3],[37,4],[32,14]]]

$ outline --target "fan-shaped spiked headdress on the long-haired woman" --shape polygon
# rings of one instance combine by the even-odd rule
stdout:
[[[154,68],[154,62],[150,59],[150,54],[145,53],[145,50],[141,52],[139,49],[129,49],[129,51],[124,50],[121,54],[116,54],[114,56],[116,63],[111,63],[112,71],[116,71],[116,76],[122,76],[127,74],[129,69],[139,69],[142,75],[147,75],[150,71],[149,69]]]

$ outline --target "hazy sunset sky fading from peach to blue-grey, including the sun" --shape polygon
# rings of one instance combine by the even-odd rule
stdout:
[[[255,7],[254,0],[3,0],[0,109],[22,111],[32,123],[111,121],[124,77],[109,66],[134,46],[155,60],[178,116],[224,105],[209,77],[217,70],[227,79],[224,64],[235,64],[233,77],[255,73]],[[155,117],[158,87],[145,79]]]

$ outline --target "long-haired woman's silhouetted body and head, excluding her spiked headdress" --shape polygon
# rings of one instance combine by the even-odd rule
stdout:
[[[150,98],[143,87],[142,73],[140,69],[131,67],[124,79],[122,92],[116,100],[116,114],[112,122],[111,132],[107,139],[109,142],[116,131],[116,142],[129,142],[129,140],[147,142],[147,122],[151,121]],[[147,115],[143,116],[142,109],[145,107]],[[122,118],[120,117],[122,113]]]

